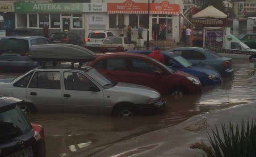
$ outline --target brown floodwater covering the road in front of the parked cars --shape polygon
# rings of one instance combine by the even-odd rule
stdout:
[[[256,76],[248,75],[253,65],[248,60],[233,60],[235,75],[224,79],[222,85],[204,87],[201,94],[180,99],[165,95],[168,105],[163,113],[135,117],[129,122],[73,113],[34,113],[29,119],[45,129],[47,157],[64,157],[175,125],[193,115],[255,101]],[[0,79],[19,75],[1,72]]]

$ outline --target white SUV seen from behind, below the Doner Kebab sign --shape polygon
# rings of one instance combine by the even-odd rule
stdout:
[[[106,37],[114,36],[112,32],[105,30],[93,30],[89,32],[88,37],[85,38],[85,47],[86,48],[99,48],[103,43]]]

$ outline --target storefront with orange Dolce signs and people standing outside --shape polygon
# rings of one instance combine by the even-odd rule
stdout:
[[[126,0],[124,3],[108,3],[108,27],[114,35],[119,36],[117,25],[130,25],[132,29],[132,40],[137,40],[138,26],[143,25],[143,38],[147,38],[147,28],[152,34],[152,26],[157,21],[158,24],[166,24],[166,39],[179,41],[179,13],[178,4],[170,4],[164,0],[162,3],[150,4],[150,21],[147,24],[147,3],[135,3]],[[125,28],[125,36],[127,28]],[[152,36],[150,36],[150,40]]]

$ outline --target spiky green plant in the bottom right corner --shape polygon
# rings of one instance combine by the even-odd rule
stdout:
[[[222,136],[216,126],[216,131],[212,129],[212,136],[208,133],[208,139],[211,147],[206,146],[202,141],[190,147],[202,149],[207,157],[256,157],[256,123],[252,121],[249,124],[241,122],[241,129],[231,123],[229,125],[222,124]],[[203,155],[205,157],[205,155]]]

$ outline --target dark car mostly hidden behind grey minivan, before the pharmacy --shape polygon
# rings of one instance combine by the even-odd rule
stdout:
[[[33,28],[15,28],[11,36],[42,36],[38,29]]]

